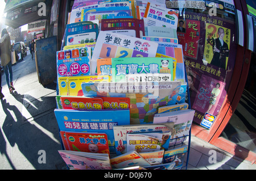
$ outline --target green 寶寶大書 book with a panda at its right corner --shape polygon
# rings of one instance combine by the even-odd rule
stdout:
[[[170,73],[174,81],[172,58],[112,58],[112,81],[124,82],[127,74]]]

